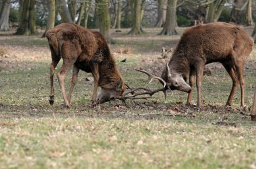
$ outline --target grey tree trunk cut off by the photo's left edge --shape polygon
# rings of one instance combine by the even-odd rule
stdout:
[[[11,0],[4,0],[2,3],[2,9],[0,13],[0,30],[8,31],[9,26],[9,11],[11,9]]]

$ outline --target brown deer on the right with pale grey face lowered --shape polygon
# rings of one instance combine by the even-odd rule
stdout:
[[[245,107],[244,65],[253,50],[253,39],[241,27],[229,23],[208,23],[185,30],[162,78],[170,89],[189,93],[196,76],[197,107],[201,107],[201,84],[205,64],[220,62],[232,78],[232,90],[226,105],[231,105],[238,83],[241,85],[241,107]],[[189,85],[185,82],[189,74]]]

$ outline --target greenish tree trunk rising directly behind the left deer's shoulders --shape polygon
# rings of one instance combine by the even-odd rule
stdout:
[[[96,0],[98,19],[100,21],[100,33],[108,43],[114,43],[110,38],[110,16],[108,13],[108,0]]]

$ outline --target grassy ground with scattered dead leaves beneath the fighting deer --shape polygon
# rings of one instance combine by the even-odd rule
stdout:
[[[253,27],[245,27],[251,33]],[[125,82],[156,89],[142,68],[161,72],[162,47],[175,48],[177,36],[157,36],[160,28],[128,36],[115,32],[110,45]],[[224,107],[232,81],[220,64],[203,76],[203,107],[186,106],[187,94],[162,93],[148,100],[90,106],[91,74],[80,71],[71,109],[55,76],[55,103],[49,105],[51,54],[45,38],[0,32],[0,168],[256,168],[256,123],[250,111],[256,83],[256,50],[245,66],[246,108],[240,88]],[[126,62],[121,60],[126,58]],[[59,70],[61,63],[57,66]],[[89,79],[89,80],[86,80]],[[67,89],[71,72],[65,78]]]

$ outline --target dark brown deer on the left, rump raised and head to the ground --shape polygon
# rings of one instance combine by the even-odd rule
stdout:
[[[53,75],[61,58],[63,59],[63,65],[57,73],[57,78],[65,105],[68,108],[70,107],[71,93],[77,82],[77,74],[80,69],[92,72],[94,76],[93,104],[104,103],[113,97],[123,94],[123,80],[117,70],[115,60],[110,54],[108,44],[100,32],[87,30],[73,23],[62,23],[47,31],[46,38],[49,40],[52,56],[50,68],[51,95],[49,99],[51,105],[53,105],[55,97]],[[73,66],[71,87],[69,94],[66,95],[64,78],[71,66]],[[98,87],[102,89],[97,96]]]

